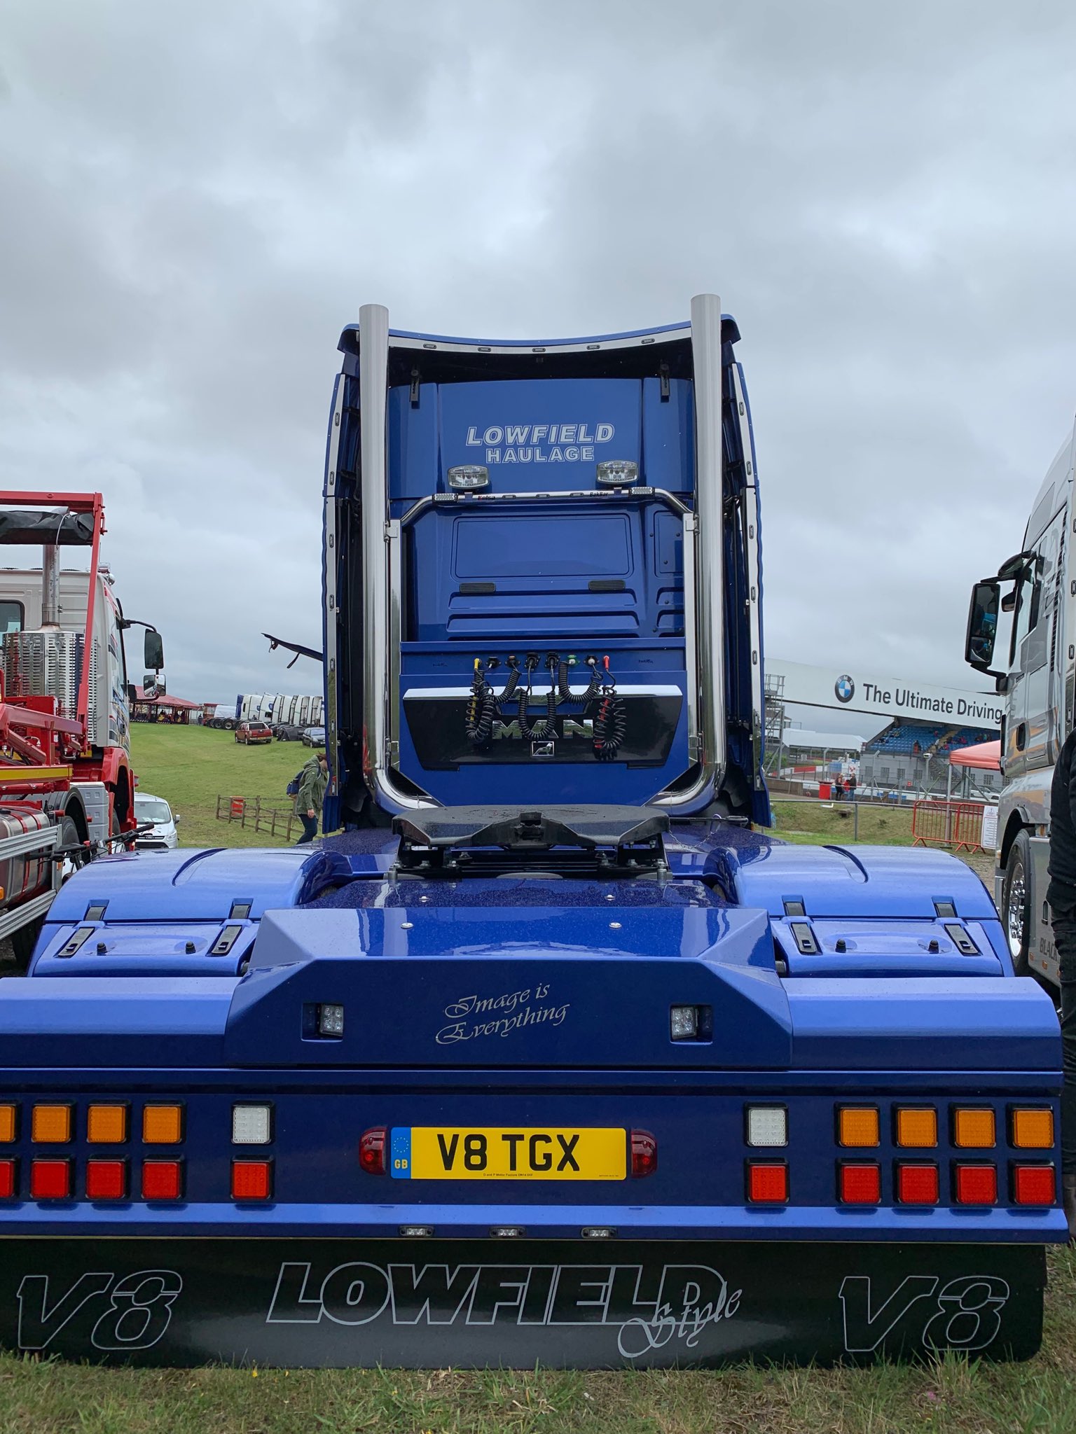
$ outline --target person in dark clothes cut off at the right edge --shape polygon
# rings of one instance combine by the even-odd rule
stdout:
[[[1076,728],[1069,733],[1050,789],[1050,885],[1046,901],[1062,972],[1062,1197],[1076,1240]]]

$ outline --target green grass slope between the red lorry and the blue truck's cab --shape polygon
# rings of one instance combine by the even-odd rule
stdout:
[[[218,822],[217,797],[261,797],[263,804],[287,812],[291,797],[284,787],[310,756],[310,747],[298,741],[245,747],[235,733],[212,727],[135,723],[131,728],[138,789],[164,797],[179,813],[181,846],[285,846],[267,832]]]

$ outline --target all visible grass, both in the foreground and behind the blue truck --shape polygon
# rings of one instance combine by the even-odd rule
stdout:
[[[296,743],[237,747],[231,733],[197,727],[138,727],[133,746],[142,790],[181,812],[187,846],[271,845],[217,822],[217,796],[261,796],[284,809],[284,784],[308,756]],[[839,807],[779,802],[776,810],[779,836],[851,840]],[[910,820],[907,810],[864,807],[859,839],[908,843]],[[1076,1255],[1050,1250],[1049,1269],[1043,1351],[1023,1365],[129,1371],[0,1355],[0,1434],[1072,1434]]]

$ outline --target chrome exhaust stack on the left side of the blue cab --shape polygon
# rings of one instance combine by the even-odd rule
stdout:
[[[387,812],[420,812],[440,803],[402,792],[392,771],[389,694],[399,687],[399,642],[389,641],[389,310],[359,310],[359,406],[363,498],[363,777]]]

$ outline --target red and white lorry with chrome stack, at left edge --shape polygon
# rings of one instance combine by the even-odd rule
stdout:
[[[0,568],[0,938],[33,949],[65,868],[136,829],[123,617],[100,564],[100,493],[0,492],[0,548],[40,548],[40,568]],[[60,568],[63,548],[89,568]],[[139,624],[146,625],[146,624]],[[164,665],[145,635],[143,683]]]

